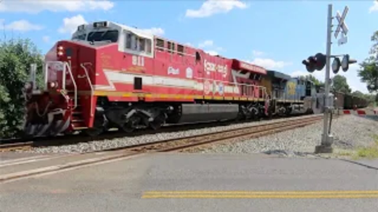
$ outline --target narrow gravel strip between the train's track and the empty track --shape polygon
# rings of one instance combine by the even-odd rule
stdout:
[[[311,115],[312,116],[312,115]],[[302,117],[291,117],[286,119],[298,119]],[[200,135],[206,134],[210,132],[220,132],[225,131],[228,129],[236,129],[242,128],[246,126],[256,126],[262,123],[274,123],[277,121],[282,121],[281,119],[274,119],[274,120],[265,120],[265,121],[255,121],[255,122],[248,122],[248,123],[237,123],[237,124],[230,124],[228,126],[216,126],[210,128],[200,128],[200,129],[191,129],[185,131],[177,131],[177,132],[160,132],[155,134],[147,134],[147,135],[140,135],[134,137],[124,137],[124,138],[113,138],[108,140],[94,140],[88,142],[82,142],[77,144],[69,144],[63,146],[47,146],[47,147],[34,147],[28,152],[35,152],[35,153],[84,153],[84,152],[93,152],[93,151],[101,151],[105,149],[112,149],[117,147],[125,147],[135,144],[143,144],[149,143],[153,141],[161,141],[171,138],[181,138],[187,137],[192,135]]]

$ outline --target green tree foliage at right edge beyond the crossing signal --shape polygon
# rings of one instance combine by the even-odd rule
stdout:
[[[369,92],[378,91],[378,31],[374,32],[371,37],[373,46],[370,49],[370,57],[366,58],[360,66],[361,70],[358,71],[358,76],[361,77],[361,81],[367,84]],[[376,96],[378,98],[378,94]]]

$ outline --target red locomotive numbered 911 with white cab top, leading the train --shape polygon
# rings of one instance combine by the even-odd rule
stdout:
[[[81,25],[46,54],[45,88],[28,85],[25,132],[93,136],[267,115],[266,73],[117,23]]]

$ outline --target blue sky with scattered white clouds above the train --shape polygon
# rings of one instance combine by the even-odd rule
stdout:
[[[349,7],[348,43],[339,46],[332,35],[332,54],[349,54],[361,63],[378,30],[378,0],[0,0],[0,39],[30,38],[45,54],[56,41],[70,39],[78,25],[108,20],[297,76],[309,74],[302,60],[325,54],[328,4],[333,16]],[[337,24],[334,18],[333,30]],[[367,93],[358,63],[339,74],[352,91]],[[312,74],[324,81],[325,70]]]

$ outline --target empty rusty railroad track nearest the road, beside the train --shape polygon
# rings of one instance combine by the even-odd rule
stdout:
[[[105,151],[90,152],[85,154],[60,155],[58,159],[56,158],[57,156],[51,156],[51,158],[47,157],[43,159],[43,167],[0,175],[0,183],[18,180],[25,177],[85,167],[93,164],[108,163],[135,155],[149,154],[153,152],[183,151],[194,147],[213,144],[216,142],[242,141],[249,138],[260,137],[267,134],[303,127],[316,123],[320,120],[322,120],[322,115],[298,118],[294,120],[283,120],[274,123],[265,123],[257,126],[249,126],[183,138],[173,138],[169,140],[155,141],[133,146],[118,147]],[[49,165],[46,165],[46,160],[50,160],[51,163]],[[34,162],[34,160],[31,162],[38,163]],[[18,161],[17,164],[23,163],[25,165],[25,163],[31,162]],[[13,164],[2,164],[1,166],[13,166]],[[37,166],[37,164],[34,164],[33,166],[35,167]],[[27,167],[26,169],[29,169],[29,167],[31,166],[25,167]]]

